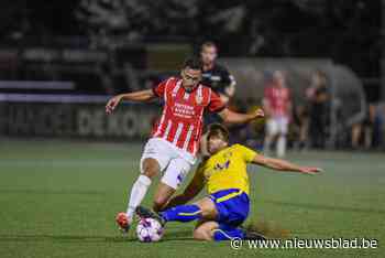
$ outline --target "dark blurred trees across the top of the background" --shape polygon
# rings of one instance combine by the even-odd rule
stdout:
[[[380,71],[380,0],[12,0],[0,2],[0,14],[2,37],[213,40],[230,56],[332,57],[362,76]]]

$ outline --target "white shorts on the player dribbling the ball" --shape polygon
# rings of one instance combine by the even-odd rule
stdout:
[[[161,182],[175,190],[196,162],[191,153],[180,150],[162,138],[151,138],[145,144],[141,158],[141,173],[143,173],[143,161],[147,158],[156,160],[160,164],[163,173]]]

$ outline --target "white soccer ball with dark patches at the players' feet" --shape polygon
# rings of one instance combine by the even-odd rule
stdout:
[[[140,241],[158,241],[163,236],[164,229],[154,218],[142,218],[136,226],[136,235]]]

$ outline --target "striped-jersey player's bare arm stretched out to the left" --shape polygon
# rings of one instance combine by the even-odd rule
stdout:
[[[139,92],[128,93],[128,94],[120,94],[120,95],[112,97],[107,103],[106,112],[111,114],[121,100],[145,103],[145,101],[154,99],[155,97],[156,96],[155,96],[154,92],[151,89],[139,90]]]

